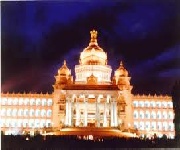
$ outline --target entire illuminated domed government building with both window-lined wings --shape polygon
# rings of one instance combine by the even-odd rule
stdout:
[[[120,62],[115,71],[98,45],[97,31],[80,53],[75,79],[64,61],[55,76],[52,94],[1,94],[0,126],[5,134],[56,129],[138,131],[174,138],[170,96],[133,95],[131,77]],[[41,132],[42,133],[42,132]]]

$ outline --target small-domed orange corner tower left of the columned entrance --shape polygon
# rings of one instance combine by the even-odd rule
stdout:
[[[65,113],[66,113],[66,91],[63,88],[66,85],[73,84],[73,77],[71,76],[71,70],[67,67],[66,61],[58,70],[58,74],[55,76],[54,93],[53,93],[53,126],[60,127],[64,125]]]

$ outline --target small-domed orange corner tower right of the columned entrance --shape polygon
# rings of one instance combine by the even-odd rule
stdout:
[[[131,77],[128,76],[128,71],[124,68],[122,61],[119,68],[115,71],[112,80],[113,84],[118,86],[118,120],[119,126],[123,128],[133,127],[133,106],[132,106],[132,86],[130,85]]]

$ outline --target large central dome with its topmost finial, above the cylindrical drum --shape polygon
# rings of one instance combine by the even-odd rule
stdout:
[[[89,46],[86,47],[80,55],[81,65],[106,65],[107,54],[97,43],[97,31],[90,32],[91,40]]]

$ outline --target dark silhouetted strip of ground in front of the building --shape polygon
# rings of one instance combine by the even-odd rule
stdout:
[[[76,136],[1,136],[2,149],[79,149],[79,148],[176,148],[175,139],[97,138],[80,140]]]

